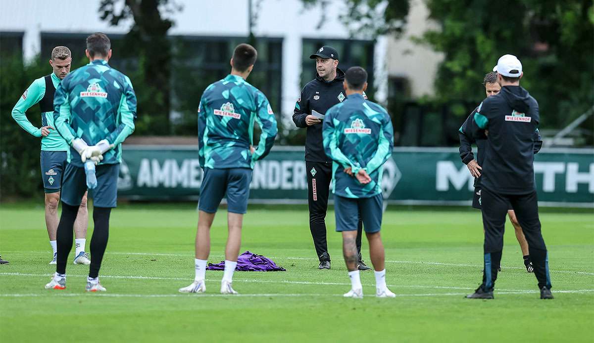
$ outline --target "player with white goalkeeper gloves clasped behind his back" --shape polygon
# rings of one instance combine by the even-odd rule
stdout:
[[[56,274],[45,288],[66,288],[66,260],[72,249],[72,225],[77,218],[84,192],[84,162],[93,160],[97,186],[93,196],[94,230],[91,237],[91,266],[87,291],[105,291],[99,282],[99,268],[108,244],[109,215],[116,207],[122,142],[134,132],[136,95],[130,79],[109,66],[111,42],[103,33],[87,37],[86,55],[90,63],[64,78],[56,90],[56,129],[71,145],[64,172],[62,217],[58,225]]]

